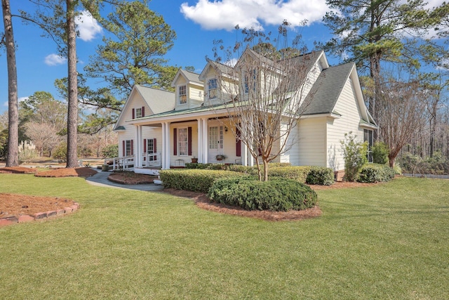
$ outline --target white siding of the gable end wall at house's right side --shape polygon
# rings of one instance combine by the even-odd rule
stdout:
[[[363,129],[359,128],[360,112],[356,102],[356,94],[351,78],[346,81],[342,93],[335,105],[335,112],[342,115],[339,119],[328,119],[327,131],[327,167],[335,171],[344,169],[344,158],[340,141],[344,140],[344,133],[352,131],[359,141],[363,141]]]

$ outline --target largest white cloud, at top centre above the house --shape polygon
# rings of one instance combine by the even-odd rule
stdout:
[[[326,0],[199,0],[194,6],[181,4],[181,13],[206,30],[233,30],[263,25],[281,25],[287,20],[293,26],[301,26],[304,20],[321,21],[328,11]]]

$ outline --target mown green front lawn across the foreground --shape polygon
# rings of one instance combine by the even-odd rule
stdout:
[[[449,299],[449,181],[319,190],[321,217],[277,223],[82,178],[0,186],[81,204],[0,228],[2,299]]]

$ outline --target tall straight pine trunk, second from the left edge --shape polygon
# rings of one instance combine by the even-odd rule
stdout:
[[[67,168],[78,167],[78,79],[76,72],[76,31],[74,1],[67,0],[67,65],[68,65],[68,113],[67,113]]]

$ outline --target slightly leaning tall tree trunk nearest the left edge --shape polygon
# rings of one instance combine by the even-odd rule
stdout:
[[[17,98],[17,69],[11,6],[9,0],[1,0],[5,27],[6,60],[8,64],[8,154],[6,167],[19,165],[19,107]]]

